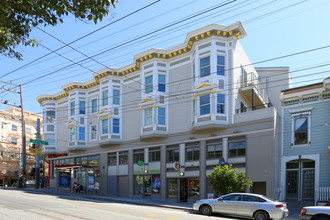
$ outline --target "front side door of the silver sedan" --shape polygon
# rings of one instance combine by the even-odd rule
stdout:
[[[237,201],[239,201],[239,199],[240,194],[230,194],[222,196],[214,204],[214,211],[228,215],[236,215]]]

